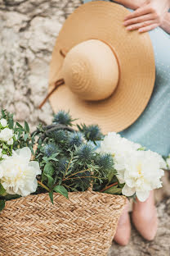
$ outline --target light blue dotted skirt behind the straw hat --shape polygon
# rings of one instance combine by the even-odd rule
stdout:
[[[141,116],[132,126],[119,134],[145,146],[146,149],[168,156],[170,153],[170,35],[159,27],[151,30],[149,34],[153,43],[156,66],[154,91]]]

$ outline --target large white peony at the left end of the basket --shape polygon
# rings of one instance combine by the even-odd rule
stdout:
[[[30,161],[31,151],[25,147],[13,151],[12,156],[0,162],[1,184],[8,194],[26,196],[37,190],[36,176],[41,174],[39,163]]]

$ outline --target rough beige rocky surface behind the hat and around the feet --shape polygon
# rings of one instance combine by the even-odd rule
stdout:
[[[65,18],[82,2],[0,0],[0,103],[15,113],[17,121],[28,121],[32,130],[39,122],[51,121],[49,103],[38,109],[47,94],[51,51]],[[168,174],[163,182],[164,189],[156,194],[159,230],[155,240],[146,242],[133,228],[130,244],[113,245],[110,256],[170,255]]]

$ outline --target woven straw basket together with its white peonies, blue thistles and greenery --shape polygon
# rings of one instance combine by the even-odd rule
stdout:
[[[166,162],[98,126],[0,119],[0,255],[106,255],[126,197],[144,201]],[[125,196],[124,196],[125,195]]]

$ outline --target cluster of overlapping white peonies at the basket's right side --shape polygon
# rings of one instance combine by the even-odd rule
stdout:
[[[140,144],[112,132],[105,136],[98,151],[111,153],[114,157],[114,168],[120,183],[125,183],[122,193],[126,196],[136,197],[144,202],[154,190],[162,186],[160,178],[166,167],[163,158],[150,150],[141,151]]]

